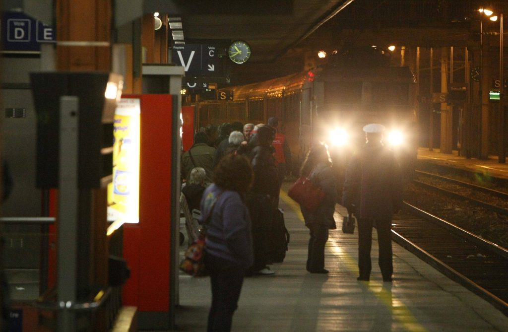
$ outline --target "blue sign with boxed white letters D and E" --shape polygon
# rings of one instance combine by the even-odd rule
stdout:
[[[19,12],[3,13],[0,32],[3,50],[7,52],[37,52],[41,43],[56,42],[51,26]]]

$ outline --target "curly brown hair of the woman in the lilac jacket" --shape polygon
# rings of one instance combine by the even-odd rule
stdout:
[[[254,174],[249,160],[242,155],[224,156],[213,171],[213,182],[224,190],[245,193],[250,189]]]

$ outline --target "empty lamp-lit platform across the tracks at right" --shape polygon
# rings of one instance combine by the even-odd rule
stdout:
[[[461,168],[508,179],[508,163],[499,163],[498,156],[489,155],[487,159],[466,158],[459,156],[457,150],[454,150],[451,154],[446,154],[440,152],[438,148],[433,148],[432,151],[429,151],[428,147],[420,147],[418,148],[417,158],[418,160],[438,165]]]

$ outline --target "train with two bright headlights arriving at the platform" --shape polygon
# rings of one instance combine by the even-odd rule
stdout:
[[[365,143],[363,126],[387,128],[385,144],[410,175],[417,153],[416,78],[408,67],[392,66],[388,53],[345,51],[335,61],[308,71],[228,88],[231,101],[196,104],[196,128],[239,121],[267,123],[276,116],[278,130],[291,148],[293,174],[316,142],[325,142],[338,176]]]

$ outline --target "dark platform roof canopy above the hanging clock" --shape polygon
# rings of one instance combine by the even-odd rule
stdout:
[[[181,15],[186,42],[243,40],[253,50],[251,62],[270,62],[353,2],[151,1],[144,3],[143,10]]]

